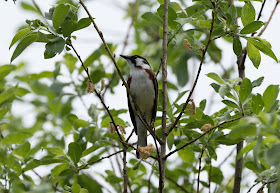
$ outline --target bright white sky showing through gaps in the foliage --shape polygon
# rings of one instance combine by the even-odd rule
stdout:
[[[21,1],[17,2],[18,4]],[[24,1],[25,2],[25,1]],[[26,1],[28,2],[28,1]],[[104,5],[104,4],[105,5]],[[100,26],[100,29],[102,29],[102,32],[106,38],[106,40],[108,42],[112,42],[113,44],[119,44],[122,43],[122,41],[124,40],[124,34],[125,31],[122,31],[121,29],[127,29],[128,25],[129,25],[129,19],[124,19],[125,15],[126,15],[126,11],[123,10],[122,8],[126,8],[127,6],[127,2],[124,1],[119,1],[119,3],[115,3],[115,1],[109,1],[107,0],[106,2],[100,3],[98,1],[93,1],[93,2],[88,2],[88,7],[93,7],[93,15],[95,18],[97,18],[98,20],[98,24]],[[156,3],[156,2],[153,2]],[[190,2],[187,2],[190,3]],[[243,2],[241,2],[240,4],[242,4]],[[44,4],[41,5],[40,2],[40,7],[43,9],[43,12],[47,11],[50,7],[50,5],[53,5],[54,3],[50,3],[50,2],[44,2]],[[103,4],[103,5],[102,5]],[[118,5],[116,5],[118,4]],[[109,6],[108,6],[109,5]],[[256,10],[258,10],[260,3],[259,2],[255,2],[256,5]],[[268,10],[267,12],[264,12],[263,14],[263,21],[266,21],[270,11],[273,7],[273,3],[267,3],[267,7],[266,10]],[[121,7],[121,8],[119,8]],[[148,7],[148,6],[147,6]],[[146,8],[147,8],[146,7]],[[156,4],[155,6],[152,6],[152,11],[155,11],[156,8],[158,7],[158,4]],[[1,64],[7,64],[10,61],[11,55],[12,55],[12,51],[8,51],[7,48],[10,44],[10,41],[12,39],[12,37],[15,34],[16,29],[24,24],[25,19],[35,19],[37,18],[36,14],[32,14],[26,11],[23,11],[20,6],[17,5],[13,5],[12,1],[7,2],[0,2],[0,16],[1,18],[7,18],[7,19],[1,19],[1,22],[3,21],[3,26],[6,26],[5,28],[3,28],[3,30],[1,31]],[[16,11],[11,11],[11,10],[16,10]],[[104,11],[106,10],[106,11]],[[278,13],[278,14],[277,14]],[[80,11],[80,15],[81,18],[85,17],[85,13],[83,11]],[[268,28],[268,30],[265,32],[265,34],[263,35],[263,38],[267,39],[269,42],[271,42],[272,47],[273,47],[273,51],[277,54],[280,53],[280,46],[279,44],[277,44],[277,41],[273,41],[275,39],[277,39],[278,37],[278,33],[277,31],[279,30],[279,26],[277,25],[277,22],[279,22],[280,20],[280,16],[279,16],[279,10],[277,10],[277,12],[275,13],[275,16]],[[119,17],[116,17],[119,16]],[[12,27],[10,27],[12,26]],[[92,27],[89,28],[85,28],[84,30],[80,31],[80,32],[75,32],[75,35],[78,37],[78,40],[74,43],[76,45],[77,50],[79,50],[79,54],[81,55],[82,58],[87,58],[93,50],[95,50],[96,48],[99,47],[100,45],[100,40],[96,35],[96,32],[92,29]],[[97,43],[98,42],[98,43]],[[133,45],[133,35],[131,35],[130,38],[130,44],[126,49],[126,53],[130,53],[130,50],[132,48],[134,48]],[[139,42],[138,42],[139,43]],[[139,43],[140,45],[140,43]],[[225,41],[223,40],[218,40],[217,41],[217,45],[220,48],[223,48],[223,58],[221,60],[221,64],[226,68],[230,68],[231,66],[233,66],[233,68],[236,69],[236,65],[235,65],[235,61],[236,61],[236,56],[234,55],[231,45],[225,43]],[[144,48],[146,49],[147,46],[146,44],[144,45]],[[147,48],[147,52],[142,53],[141,55],[145,56],[146,54],[148,55],[148,53],[154,51],[154,45],[151,46],[151,48]],[[119,46],[121,47],[121,46]],[[142,47],[139,48],[140,51],[143,50]],[[138,51],[139,51],[138,50]],[[62,54],[55,57],[54,59],[49,59],[49,60],[44,60],[43,59],[43,52],[44,52],[44,46],[42,45],[33,45],[30,48],[28,48],[28,50],[26,50],[17,60],[14,61],[14,63],[19,63],[20,61],[26,61],[26,68],[24,70],[22,70],[21,72],[17,72],[17,73],[39,73],[41,71],[44,70],[50,70],[53,71],[55,69],[55,62],[56,61],[61,61],[62,60]],[[121,48],[118,48],[116,53],[121,52]],[[32,53],[32,54],[29,54]],[[160,54],[160,53],[159,53]],[[155,54],[156,55],[156,54]],[[277,54],[277,57],[279,58],[279,54]],[[36,58],[36,59],[34,59]],[[147,57],[148,58],[148,57]],[[148,60],[150,61],[150,63],[152,65],[154,65],[154,68],[156,68],[156,66],[159,63],[159,56],[157,57],[151,57],[148,58]],[[36,62],[34,62],[36,61]],[[109,68],[111,68],[110,66],[112,66],[110,64],[110,61],[103,57],[102,63],[105,63],[109,66]],[[123,61],[120,61],[123,63]],[[172,63],[169,61],[169,63]],[[196,68],[197,68],[197,64],[199,63],[198,60],[193,60],[190,61],[188,64],[188,72],[190,75],[190,80],[193,79],[193,72],[196,72]],[[201,77],[199,79],[197,88],[195,90],[195,95],[194,95],[194,100],[196,102],[196,104],[199,104],[199,102],[205,98],[210,99],[209,101],[212,101],[213,103],[213,107],[209,107],[206,106],[206,112],[208,111],[209,113],[215,112],[218,109],[220,109],[221,107],[224,107],[223,104],[221,104],[221,102],[217,102],[220,100],[220,97],[216,94],[213,95],[212,92],[212,88],[210,88],[209,86],[209,78],[207,78],[205,76],[205,74],[209,73],[209,72],[216,72],[218,74],[223,73],[223,69],[217,65],[214,64],[213,62],[210,61],[210,59],[206,59],[206,65],[203,66],[203,71],[201,74]],[[251,62],[249,60],[246,61],[246,77],[248,77],[251,80],[255,80],[256,78],[260,77],[260,76],[265,76],[264,82],[261,85],[261,87],[257,88],[256,90],[254,90],[254,92],[260,92],[263,93],[264,89],[269,85],[269,84],[279,84],[279,78],[278,78],[278,73],[280,68],[279,66],[275,65],[275,62],[273,62],[273,60],[265,55],[262,55],[262,64],[260,65],[260,68],[257,70],[253,67],[253,65],[251,64]],[[79,66],[78,62],[77,62],[77,66]],[[62,73],[64,73],[65,69],[62,68]],[[112,68],[113,70],[113,68]],[[124,69],[124,73],[127,74],[127,71],[125,71]],[[65,72],[65,74],[67,74],[67,72]],[[171,75],[171,73],[169,73],[169,79],[170,82],[174,83],[175,85],[177,85],[177,80],[176,77],[174,75]],[[10,79],[8,79],[12,85],[15,85],[17,82],[12,79],[13,75],[10,77]],[[232,72],[231,73],[231,78],[236,78],[237,77],[237,73]],[[58,77],[59,79],[59,77]],[[68,78],[61,78],[60,79],[62,82],[67,82],[70,81],[71,79]],[[51,82],[48,81],[52,81],[52,80],[45,80],[48,84],[50,84]],[[78,79],[77,79],[78,81]],[[191,81],[190,81],[191,82]],[[190,82],[185,85],[183,88],[180,88],[182,90],[186,90],[190,88]],[[85,88],[85,87],[83,87]],[[72,88],[73,89],[73,88]],[[65,89],[67,91],[67,89]],[[69,91],[71,90],[71,88],[69,89]],[[105,101],[106,104],[108,106],[110,106],[110,108],[124,108],[126,109],[126,94],[125,94],[125,89],[124,87],[118,86],[116,89],[116,95],[106,95]],[[40,91],[38,91],[40,92]],[[84,91],[83,91],[84,92]],[[38,94],[38,93],[37,93]],[[97,104],[98,101],[96,98],[94,98],[92,95],[85,95],[82,97],[86,106],[89,107],[90,104],[94,103]],[[115,99],[118,98],[118,100],[116,101]],[[170,100],[174,101],[176,98],[176,91],[170,91]],[[26,95],[25,100],[27,101],[32,101],[34,98]],[[120,100],[119,100],[120,99]],[[94,102],[93,102],[94,101]],[[66,106],[69,104],[66,104]],[[87,111],[83,109],[83,107],[81,107],[83,104],[81,103],[81,101],[79,99],[75,99],[74,103],[73,103],[73,108],[75,109],[75,114],[79,117],[79,119],[84,119],[84,120],[88,120],[89,116],[87,115]],[[26,115],[26,110],[28,110],[28,115]],[[37,112],[39,113],[43,113],[41,111],[42,109],[36,109]],[[14,102],[13,108],[12,108],[12,115],[17,115],[17,116],[23,116],[23,123],[19,123],[20,125],[23,124],[24,127],[30,127],[32,126],[32,121],[30,120],[35,120],[38,119],[37,113],[34,113],[33,107],[30,108],[30,105],[27,104],[23,104],[19,102]],[[42,114],[41,114],[42,115]],[[43,116],[43,115],[42,115]],[[121,118],[123,118],[124,120],[128,121],[129,119],[127,118],[127,114],[125,115],[121,115]],[[10,117],[12,119],[15,119],[14,117]],[[44,116],[43,116],[44,118]],[[13,121],[17,121],[17,118]],[[47,131],[49,131],[50,133],[53,132],[53,126],[46,124],[44,126],[46,128]],[[130,129],[130,127],[129,127]],[[135,139],[135,138],[134,138]],[[66,144],[68,144],[69,142],[72,141],[71,138],[68,139],[69,141],[66,142]],[[151,140],[152,141],[152,140]],[[58,141],[56,141],[58,142]],[[52,142],[53,143],[53,142]],[[32,144],[32,143],[31,143]],[[63,147],[63,146],[62,146]],[[228,152],[228,147],[226,148],[222,148],[220,150],[218,150],[219,155],[224,154],[224,152]],[[220,153],[221,152],[221,153]],[[132,156],[131,156],[132,157]],[[197,156],[196,156],[197,158]],[[176,159],[176,158],[171,158],[171,159]],[[223,160],[222,156],[218,156],[218,161],[217,164],[220,163],[219,161]],[[108,161],[102,162],[100,163],[100,165],[105,165],[105,163],[108,163]],[[216,164],[216,162],[213,162],[213,165]],[[226,170],[229,169],[229,165],[227,165],[225,168]],[[98,168],[97,167],[93,167],[93,168]],[[91,170],[94,170],[94,169]],[[40,170],[41,171],[41,170]],[[32,176],[34,174],[31,174]],[[42,174],[45,175],[45,174]],[[224,173],[224,175],[226,176],[226,173]],[[207,175],[206,175],[207,176]],[[34,177],[36,178],[36,177]],[[99,178],[99,177],[98,177]],[[252,177],[253,178],[253,177]],[[100,178],[102,179],[102,178]],[[207,177],[206,177],[207,179]],[[103,183],[105,182],[104,180],[101,180]],[[249,183],[252,183],[249,182]]]

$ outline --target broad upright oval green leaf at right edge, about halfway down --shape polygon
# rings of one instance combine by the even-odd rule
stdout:
[[[263,102],[265,111],[269,111],[277,99],[279,85],[269,85],[263,93]]]

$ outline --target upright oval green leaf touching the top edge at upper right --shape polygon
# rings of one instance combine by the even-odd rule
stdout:
[[[241,21],[243,26],[255,21],[256,11],[254,6],[250,1],[245,1],[245,5],[242,8]]]

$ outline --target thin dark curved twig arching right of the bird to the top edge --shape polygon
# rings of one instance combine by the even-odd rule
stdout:
[[[185,111],[185,109],[186,109],[186,107],[187,107],[187,105],[188,105],[188,103],[189,103],[189,101],[191,99],[191,96],[192,96],[192,94],[194,92],[194,89],[196,87],[196,84],[197,84],[197,81],[198,81],[198,78],[199,78],[199,75],[200,75],[200,72],[201,72],[202,64],[203,64],[203,61],[205,59],[205,55],[206,55],[207,49],[209,47],[209,44],[211,42],[211,36],[212,36],[213,28],[214,28],[215,8],[216,8],[215,2],[212,2],[212,5],[213,5],[213,11],[212,11],[212,21],[211,21],[210,33],[209,33],[209,37],[208,37],[208,41],[207,41],[206,47],[205,47],[205,49],[203,50],[203,53],[202,53],[202,57],[201,57],[201,61],[200,61],[200,64],[199,64],[199,68],[198,68],[198,72],[197,72],[195,81],[193,83],[193,86],[192,86],[192,89],[191,89],[191,91],[189,93],[189,96],[188,96],[184,106],[182,107],[179,115],[177,116],[176,120],[174,121],[174,123],[170,126],[169,130],[167,131],[167,136],[176,127],[176,125],[178,124],[178,122],[181,119],[182,115],[184,114],[184,111]]]

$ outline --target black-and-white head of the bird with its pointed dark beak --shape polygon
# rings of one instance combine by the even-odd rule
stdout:
[[[130,68],[140,68],[140,69],[151,70],[150,64],[142,56],[138,56],[138,55],[131,55],[131,56],[120,55],[120,56],[122,58],[126,59]]]

